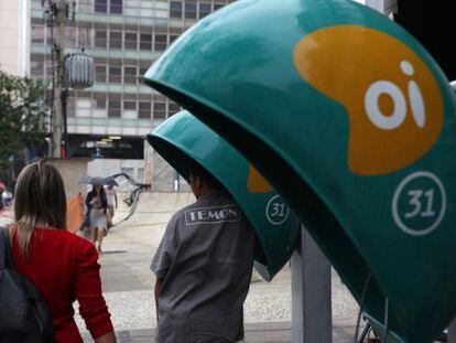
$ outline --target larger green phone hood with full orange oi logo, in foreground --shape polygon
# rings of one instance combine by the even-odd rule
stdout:
[[[346,0],[241,0],[144,81],[258,168],[376,323],[388,299],[392,336],[430,342],[449,322],[456,105],[402,28]]]

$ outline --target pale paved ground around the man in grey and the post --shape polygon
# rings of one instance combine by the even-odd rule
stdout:
[[[105,253],[100,257],[104,291],[120,342],[152,341],[154,276],[149,265],[167,218],[192,199],[173,196],[164,195],[163,202],[145,196],[131,221],[112,228],[104,244]],[[146,211],[148,207],[154,211]],[[289,266],[271,282],[253,275],[245,304],[246,342],[291,342],[290,283]],[[352,342],[357,304],[336,274],[333,274],[333,315],[334,342]],[[78,323],[84,328],[80,320]]]

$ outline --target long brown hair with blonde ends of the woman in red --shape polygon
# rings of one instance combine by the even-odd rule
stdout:
[[[66,229],[66,195],[58,170],[44,160],[26,165],[19,174],[14,196],[13,236],[20,251],[29,256],[36,223]]]

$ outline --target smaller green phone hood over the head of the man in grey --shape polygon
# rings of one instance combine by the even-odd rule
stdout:
[[[289,260],[300,229],[283,199],[238,151],[187,111],[164,121],[148,141],[187,181],[196,161],[229,191],[260,243],[254,267],[270,281]]]

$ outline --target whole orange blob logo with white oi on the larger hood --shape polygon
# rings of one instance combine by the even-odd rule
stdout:
[[[338,25],[304,36],[293,57],[305,81],[346,108],[354,173],[400,170],[437,140],[444,118],[438,84],[399,40],[373,29]]]

